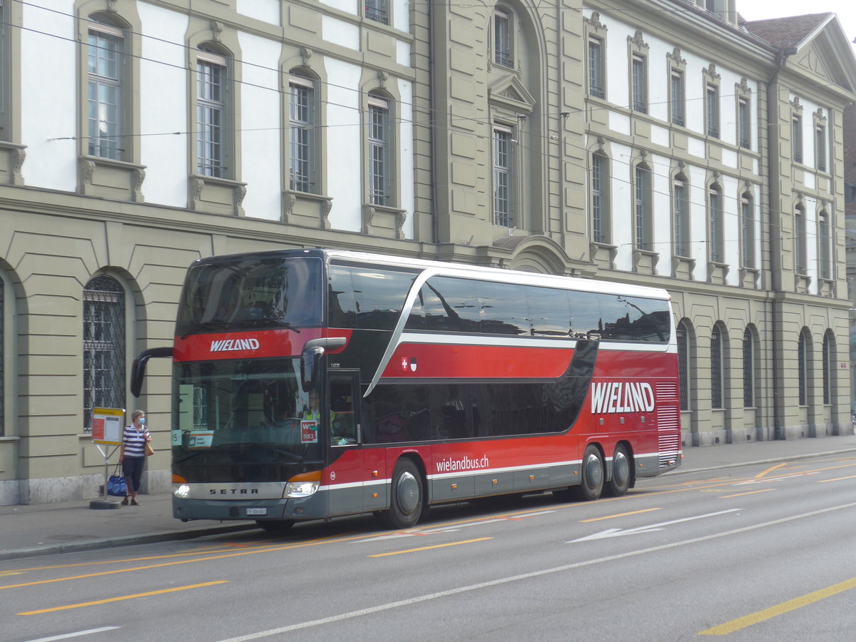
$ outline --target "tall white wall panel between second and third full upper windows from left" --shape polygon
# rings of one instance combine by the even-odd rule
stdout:
[[[241,33],[241,180],[247,183],[243,208],[248,217],[282,217],[282,110],[276,63],[282,46]]]

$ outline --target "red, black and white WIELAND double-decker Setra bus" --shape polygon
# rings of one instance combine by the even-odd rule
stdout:
[[[181,520],[621,496],[681,462],[662,289],[336,250],[199,259],[173,361]]]

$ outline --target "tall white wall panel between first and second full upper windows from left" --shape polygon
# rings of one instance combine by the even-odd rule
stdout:
[[[140,60],[143,196],[147,203],[187,207],[187,15],[148,3],[137,11],[143,33],[152,36],[142,39]]]

